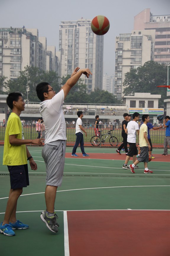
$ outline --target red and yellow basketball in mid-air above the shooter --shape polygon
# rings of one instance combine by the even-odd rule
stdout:
[[[106,34],[109,30],[109,27],[109,20],[102,15],[96,16],[91,22],[91,29],[98,36]]]

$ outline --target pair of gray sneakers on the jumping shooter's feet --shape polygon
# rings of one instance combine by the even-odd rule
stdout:
[[[57,233],[59,224],[56,221],[56,213],[54,212],[54,216],[52,217],[48,217],[46,211],[43,211],[41,213],[41,220],[46,223],[47,228],[49,228],[49,230],[51,230],[52,232]]]

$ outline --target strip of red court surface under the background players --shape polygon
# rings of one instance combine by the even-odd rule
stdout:
[[[90,158],[90,159],[110,159],[110,160],[125,160],[126,155],[118,155],[117,153],[89,153],[89,157],[83,157],[82,153],[76,153],[78,157],[71,156],[71,153],[66,153],[66,158]],[[87,152],[88,154],[88,152]],[[132,158],[130,158],[132,160]],[[170,162],[169,156],[156,155],[152,162]],[[170,255],[170,254],[169,254]]]

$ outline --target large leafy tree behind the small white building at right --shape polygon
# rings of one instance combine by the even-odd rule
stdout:
[[[167,98],[166,89],[156,86],[167,85],[167,66],[154,61],[147,61],[143,66],[127,72],[123,85],[126,87],[123,91],[125,95],[134,95],[134,93],[161,94],[159,107],[163,107],[163,100]]]

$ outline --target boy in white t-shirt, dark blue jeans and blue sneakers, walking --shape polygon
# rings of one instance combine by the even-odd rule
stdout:
[[[76,122],[76,142],[75,145],[73,147],[72,150],[72,156],[78,156],[76,155],[76,150],[78,145],[80,144],[80,148],[81,148],[81,152],[83,154],[83,156],[89,156],[88,154],[85,153],[84,151],[84,139],[83,139],[83,132],[85,133],[85,136],[87,137],[87,132],[85,131],[85,129],[82,127],[82,118],[83,118],[83,112],[82,111],[78,111],[77,112],[77,122]]]

